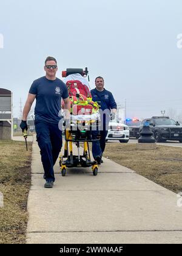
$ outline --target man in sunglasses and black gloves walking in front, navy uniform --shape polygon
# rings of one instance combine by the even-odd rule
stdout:
[[[58,71],[56,59],[47,57],[44,70],[45,76],[35,80],[30,87],[20,127],[22,131],[27,130],[27,115],[36,98],[35,129],[44,167],[44,179],[46,180],[44,187],[52,188],[55,182],[53,166],[62,146],[62,131],[58,127],[61,119],[59,116],[61,98],[67,110],[66,123],[69,122],[70,101],[66,85],[56,77]]]

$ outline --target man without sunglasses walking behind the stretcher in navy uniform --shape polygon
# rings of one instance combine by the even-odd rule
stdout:
[[[115,118],[115,113],[117,110],[117,105],[113,95],[110,91],[107,91],[104,88],[104,79],[101,76],[96,77],[95,79],[95,89],[91,90],[93,101],[97,101],[100,107],[100,116],[101,116],[101,128],[100,128],[100,140],[93,141],[92,143],[92,154],[93,158],[100,165],[103,163],[101,159],[103,152],[106,146],[106,136],[109,127],[110,117]],[[98,138],[98,131],[92,131],[92,138]]]

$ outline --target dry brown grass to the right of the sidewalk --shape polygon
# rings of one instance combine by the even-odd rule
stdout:
[[[138,150],[136,144],[106,143],[104,157],[172,190],[182,191],[182,149],[157,146]]]

